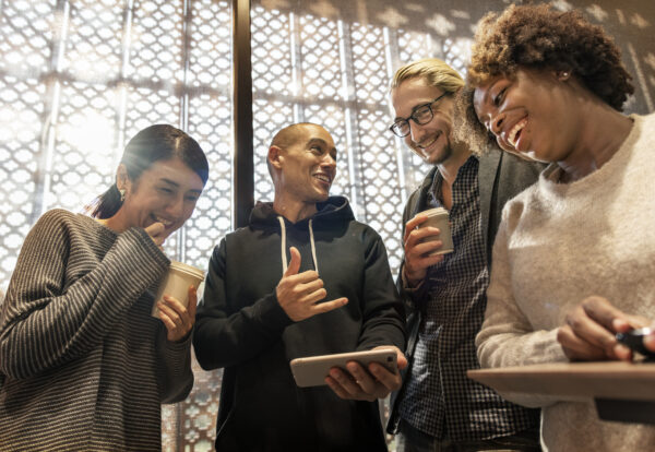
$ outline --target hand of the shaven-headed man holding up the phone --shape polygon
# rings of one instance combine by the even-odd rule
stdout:
[[[394,350],[397,355],[398,369],[407,367],[407,358],[397,347],[382,345],[373,349]],[[400,390],[403,380],[400,372],[390,372],[378,362],[371,362],[368,369],[365,369],[358,362],[350,361],[346,364],[346,369],[338,367],[330,369],[325,382],[341,399],[373,402],[386,397],[392,391]]]

